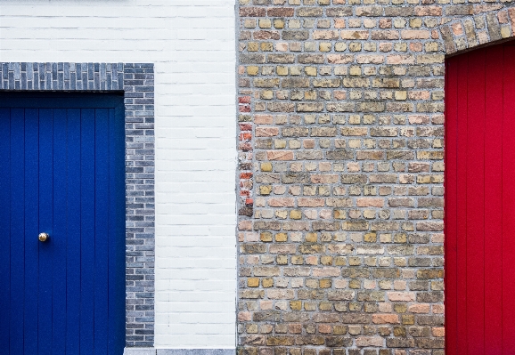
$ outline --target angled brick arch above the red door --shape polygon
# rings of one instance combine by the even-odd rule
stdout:
[[[515,38],[514,4],[469,4],[461,17],[443,18],[439,27],[446,55]]]

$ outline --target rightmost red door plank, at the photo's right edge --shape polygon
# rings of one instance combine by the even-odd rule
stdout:
[[[511,354],[515,349],[515,230],[513,209],[515,206],[515,46],[504,47],[503,67],[503,354]]]

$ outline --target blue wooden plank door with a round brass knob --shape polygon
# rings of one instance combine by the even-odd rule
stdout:
[[[123,353],[124,137],[122,96],[0,93],[0,353]]]

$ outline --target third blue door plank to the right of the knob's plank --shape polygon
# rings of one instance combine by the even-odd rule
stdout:
[[[94,109],[81,109],[80,354],[94,354]]]

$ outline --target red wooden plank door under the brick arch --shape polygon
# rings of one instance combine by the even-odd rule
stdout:
[[[446,62],[446,355],[515,354],[515,44]]]

